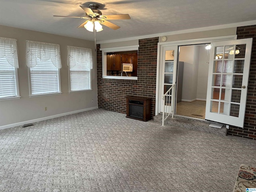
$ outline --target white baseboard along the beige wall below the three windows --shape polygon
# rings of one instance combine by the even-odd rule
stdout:
[[[33,120],[28,120],[28,121],[23,121],[23,122],[18,122],[18,123],[14,123],[14,124],[4,125],[4,126],[0,126],[0,130],[11,128],[11,127],[15,127],[15,126],[21,126],[21,125],[28,124],[28,123],[34,123],[34,122],[38,122],[38,121],[53,119],[53,118],[61,117],[61,116],[65,116],[65,115],[71,115],[71,114],[74,114],[74,113],[80,113],[80,112],[84,112],[84,111],[89,111],[89,110],[93,110],[93,109],[98,109],[98,106],[91,107],[91,108],[86,108],[86,109],[81,109],[81,110],[77,110],[77,111],[66,112],[66,113],[57,114],[57,115],[52,115],[52,116],[48,116],[48,117],[43,117],[43,118],[38,118],[38,119],[33,119]]]

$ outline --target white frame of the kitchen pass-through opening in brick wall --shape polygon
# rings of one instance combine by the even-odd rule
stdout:
[[[100,48],[102,51],[102,78],[104,79],[126,79],[126,80],[138,80],[136,77],[127,76],[110,76],[107,75],[107,53],[108,52],[124,52],[124,51],[138,51],[139,45],[113,47],[113,48]]]

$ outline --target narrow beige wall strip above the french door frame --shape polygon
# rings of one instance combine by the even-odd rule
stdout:
[[[210,37],[221,37],[221,36],[229,36],[229,35],[236,35],[236,27],[168,35],[166,36],[167,37],[166,42],[210,38]],[[162,38],[160,38],[160,42],[162,42]]]

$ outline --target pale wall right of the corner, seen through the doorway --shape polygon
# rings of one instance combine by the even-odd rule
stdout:
[[[208,70],[209,70],[209,55],[205,47],[206,45],[199,46],[198,81],[197,81],[197,96],[196,96],[198,100],[206,100]]]

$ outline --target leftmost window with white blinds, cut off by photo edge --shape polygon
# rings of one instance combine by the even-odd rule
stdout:
[[[0,99],[20,98],[16,41],[0,38]]]

